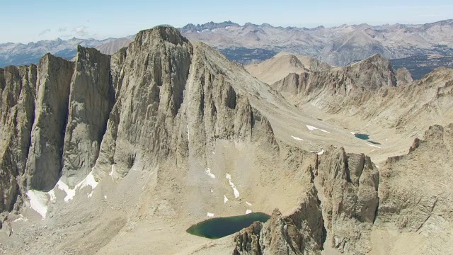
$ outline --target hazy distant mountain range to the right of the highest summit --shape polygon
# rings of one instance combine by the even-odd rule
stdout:
[[[248,53],[246,59],[233,58],[244,64],[264,60],[261,52],[253,54],[256,49],[316,57],[336,66],[364,60],[376,53],[389,60],[426,54],[453,55],[453,20],[421,25],[360,24],[311,29],[265,23],[239,26],[228,21],[189,24],[180,30],[190,40],[205,42],[230,58],[234,57],[231,52]]]

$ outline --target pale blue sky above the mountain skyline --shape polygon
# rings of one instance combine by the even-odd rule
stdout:
[[[0,42],[122,37],[159,24],[233,21],[274,26],[429,23],[453,18],[452,1],[3,0]]]

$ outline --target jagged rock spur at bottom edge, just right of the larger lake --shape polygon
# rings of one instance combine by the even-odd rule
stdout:
[[[320,254],[325,239],[323,218],[314,186],[291,215],[275,209],[265,223],[254,222],[234,238],[233,254]]]

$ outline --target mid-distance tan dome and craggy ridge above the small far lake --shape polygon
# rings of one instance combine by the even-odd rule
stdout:
[[[271,59],[275,62],[272,62],[273,64],[268,64],[268,62],[271,62],[271,60],[268,60],[247,68],[251,74],[261,81],[268,81],[270,77],[275,75],[280,77],[280,80],[270,84],[291,103],[306,103],[316,98],[321,100],[318,104],[331,111],[332,108],[336,107],[336,102],[331,102],[331,98],[329,98],[331,96],[340,95],[339,98],[335,98],[336,101],[350,103],[346,102],[346,99],[351,101],[351,98],[354,98],[353,101],[355,97],[360,97],[360,94],[364,91],[378,91],[384,87],[396,86],[395,73],[389,60],[378,54],[346,67],[331,67],[326,63],[311,60],[305,65],[299,64],[303,68],[298,67],[297,64],[293,67],[292,58],[287,59],[291,55],[278,56],[275,57],[276,60]],[[299,56],[299,59],[303,60],[304,58],[310,59],[309,57]],[[296,58],[296,60],[299,59]],[[289,67],[286,67],[286,65],[289,65]],[[403,82],[402,79],[401,83]],[[320,94],[326,94],[324,96],[326,99],[322,100]]]

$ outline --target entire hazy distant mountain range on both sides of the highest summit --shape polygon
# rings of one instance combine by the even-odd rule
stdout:
[[[344,66],[379,53],[398,67],[411,69],[420,62],[423,55],[453,55],[453,20],[437,21],[419,25],[370,26],[342,25],[333,28],[275,27],[267,23],[256,25],[226,21],[222,23],[188,24],[179,28],[180,33],[190,40],[198,40],[211,45],[222,54],[241,64],[251,64],[267,60],[278,52],[316,57],[318,60],[336,66]],[[103,53],[112,54],[127,46],[134,35],[126,38],[105,40],[77,39],[45,40],[28,44],[0,44],[0,67],[10,64],[37,63],[46,52],[71,59],[76,55],[76,45],[96,47]],[[418,56],[415,57],[414,56]],[[406,59],[408,57],[413,57]],[[428,59],[428,57],[425,57]],[[396,60],[405,59],[405,60]],[[451,64],[452,58],[436,62]],[[432,61],[430,61],[432,62]],[[432,70],[429,63],[426,68]],[[432,62],[434,64],[434,62]],[[402,65],[401,65],[402,64]],[[416,65],[416,64],[415,64]],[[417,71],[418,70],[418,71]],[[428,73],[428,71],[420,72]],[[420,76],[413,73],[413,76]]]

